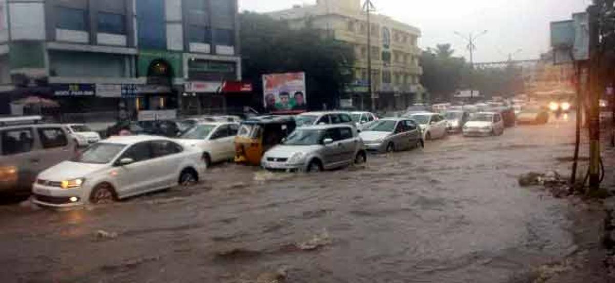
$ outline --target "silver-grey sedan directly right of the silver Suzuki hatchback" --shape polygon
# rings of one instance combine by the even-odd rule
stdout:
[[[359,136],[374,152],[394,152],[422,147],[421,128],[409,118],[383,118],[363,129]]]

